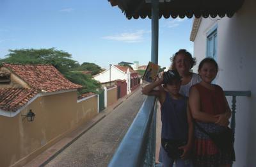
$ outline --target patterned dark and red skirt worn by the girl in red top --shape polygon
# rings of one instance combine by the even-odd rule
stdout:
[[[207,132],[221,132],[223,127],[215,123],[197,122],[200,127]],[[212,139],[207,134],[200,131],[195,125],[195,145],[194,145],[194,164],[202,167],[215,167],[223,164],[232,164],[235,161],[234,148],[228,152],[223,152],[216,147]]]

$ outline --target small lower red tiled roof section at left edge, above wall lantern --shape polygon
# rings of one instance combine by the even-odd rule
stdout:
[[[38,91],[26,88],[1,88],[0,109],[16,111],[32,99]]]

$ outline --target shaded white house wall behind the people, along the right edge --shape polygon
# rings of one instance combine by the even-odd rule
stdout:
[[[246,0],[230,19],[202,19],[194,42],[198,64],[205,58],[206,33],[218,24],[217,84],[223,90],[250,90],[252,97],[237,97],[236,162],[234,166],[256,165],[256,2]],[[230,98],[228,98],[231,106]]]

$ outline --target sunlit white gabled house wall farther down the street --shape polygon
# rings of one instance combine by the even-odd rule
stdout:
[[[126,78],[126,74],[124,72],[121,72],[120,70],[118,70],[116,67],[111,66],[111,81],[114,81],[116,79],[125,79]],[[100,83],[106,83],[109,82],[109,69],[98,74],[97,76],[93,77],[95,80],[99,81]]]

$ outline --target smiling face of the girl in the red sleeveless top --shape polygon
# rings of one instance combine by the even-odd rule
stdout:
[[[202,81],[211,83],[217,75],[217,69],[212,63],[204,63],[202,68],[198,71]]]

